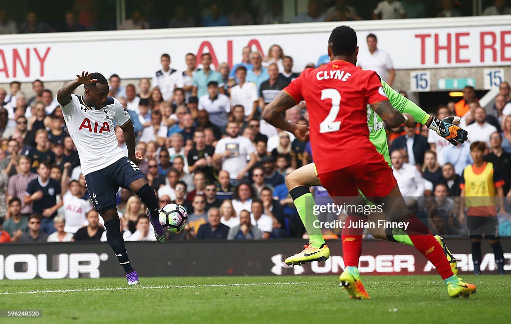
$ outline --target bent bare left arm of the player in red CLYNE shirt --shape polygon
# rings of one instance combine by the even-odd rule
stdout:
[[[263,118],[274,127],[293,133],[298,140],[304,141],[309,136],[309,128],[284,119],[283,113],[294,106],[296,106],[296,101],[293,97],[286,91],[281,91],[263,110]]]

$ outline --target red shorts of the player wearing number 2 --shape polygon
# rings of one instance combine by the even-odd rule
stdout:
[[[380,154],[339,170],[321,173],[318,179],[331,197],[358,196],[359,189],[367,197],[384,197],[397,185],[392,168]]]

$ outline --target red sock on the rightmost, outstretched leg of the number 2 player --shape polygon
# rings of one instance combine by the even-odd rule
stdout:
[[[415,248],[435,266],[442,279],[452,277],[454,273],[449,261],[447,261],[442,245],[438,243],[426,226],[415,215],[411,215],[407,221],[409,226],[406,233]]]

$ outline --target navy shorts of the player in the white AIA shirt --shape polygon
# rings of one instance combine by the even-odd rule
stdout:
[[[115,194],[119,187],[131,190],[131,184],[138,179],[145,179],[144,173],[133,161],[123,157],[86,175],[85,183],[94,208],[101,214],[101,210],[114,209],[117,206]]]

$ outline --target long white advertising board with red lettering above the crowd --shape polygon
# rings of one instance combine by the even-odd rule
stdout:
[[[360,51],[367,48],[365,37],[378,36],[379,48],[388,52],[397,69],[499,66],[511,63],[511,25],[486,24],[460,27],[376,27],[369,22],[353,23],[358,32]],[[465,21],[465,20],[462,20]],[[411,25],[410,25],[411,24]],[[403,25],[403,23],[401,23]],[[294,59],[297,70],[316,63],[327,53],[332,23],[251,28],[213,28],[153,31],[120,31],[45,34],[45,37],[16,35],[0,37],[0,80],[9,82],[63,81],[78,71],[101,71],[121,78],[151,77],[160,68],[159,57],[169,53],[172,67],[185,69],[184,56],[211,53],[213,64],[230,66],[241,60],[244,46],[263,55],[273,44],[284,48]],[[305,25],[307,26],[307,25]],[[75,36],[76,35],[76,36]],[[26,39],[24,39],[26,37]],[[197,61],[200,64],[200,59]]]

